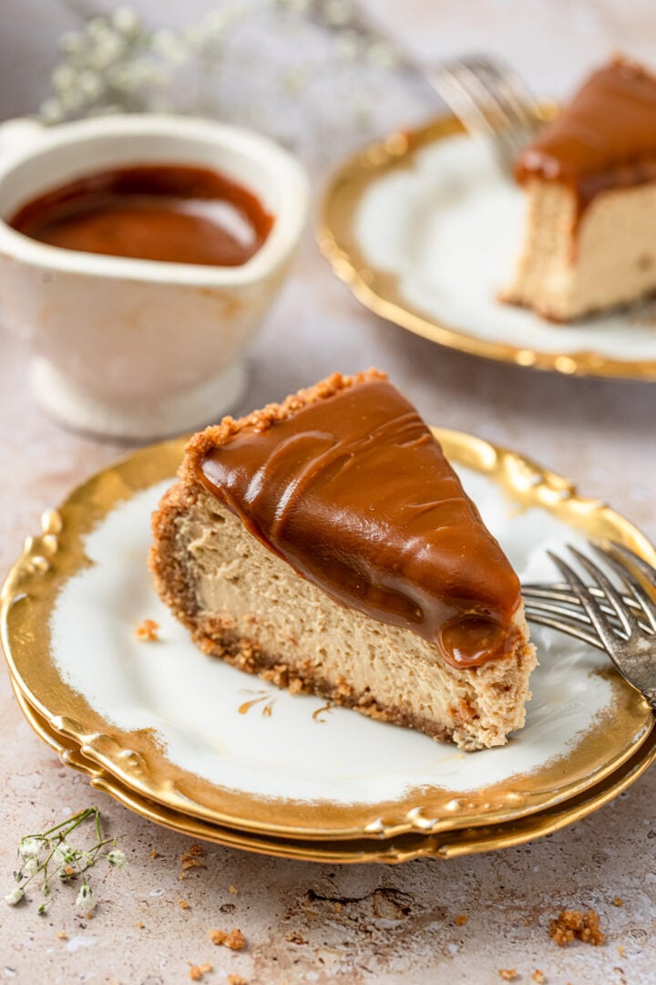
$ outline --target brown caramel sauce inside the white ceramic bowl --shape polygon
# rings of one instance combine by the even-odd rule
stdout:
[[[140,164],[49,191],[9,225],[64,249],[234,267],[260,249],[272,224],[255,195],[216,171]]]

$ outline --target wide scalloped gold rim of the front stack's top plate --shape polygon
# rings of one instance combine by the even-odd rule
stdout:
[[[449,430],[435,433],[452,461],[487,474],[516,507],[544,507],[590,536],[619,540],[656,561],[654,549],[625,518],[579,496],[566,479],[480,438]],[[183,447],[183,440],[150,446],[74,490],[60,510],[44,515],[43,534],[28,540],[2,590],[5,655],[30,705],[52,731],[70,737],[83,755],[141,797],[186,816],[268,836],[334,841],[412,831],[435,834],[516,821],[578,796],[615,772],[649,739],[654,718],[646,702],[616,675],[616,716],[598,742],[581,744],[569,756],[565,782],[559,760],[537,775],[514,777],[512,783],[465,796],[433,788],[369,806],[272,800],[265,805],[256,796],[215,787],[168,762],[149,730],[124,733],[113,728],[59,677],[50,651],[50,612],[66,579],[88,563],[84,537],[89,530],[121,500],[172,476]],[[620,745],[609,755],[614,742]]]

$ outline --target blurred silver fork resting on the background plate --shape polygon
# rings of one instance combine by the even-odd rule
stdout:
[[[335,17],[335,12],[338,16]],[[387,61],[422,79],[443,99],[465,129],[492,146],[509,175],[521,148],[543,120],[523,81],[501,59],[469,55],[427,66],[382,32],[350,0],[312,0],[308,13],[333,33],[349,33],[366,50],[387,52]]]

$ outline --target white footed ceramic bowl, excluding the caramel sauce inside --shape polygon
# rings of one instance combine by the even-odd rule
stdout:
[[[275,222],[238,267],[103,256],[30,239],[6,220],[93,170],[197,164],[252,191]],[[255,133],[159,114],[52,128],[0,126],[2,319],[30,340],[34,396],[60,422],[151,438],[215,421],[239,399],[244,351],[276,296],[303,230],[306,174]]]

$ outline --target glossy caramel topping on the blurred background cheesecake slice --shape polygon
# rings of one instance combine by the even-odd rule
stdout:
[[[595,72],[525,148],[515,174],[571,185],[579,213],[601,191],[656,179],[656,77],[620,58]]]

